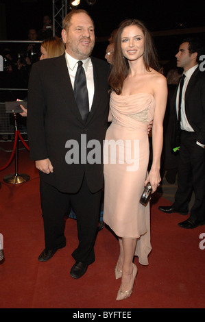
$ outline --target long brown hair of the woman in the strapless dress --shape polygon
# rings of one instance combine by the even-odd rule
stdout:
[[[114,92],[116,92],[117,95],[121,94],[123,82],[130,71],[128,59],[123,56],[121,50],[121,34],[123,32],[123,29],[130,25],[136,25],[137,27],[139,27],[145,36],[145,49],[143,59],[146,70],[150,71],[150,67],[152,69],[155,69],[156,71],[158,71],[159,69],[156,49],[154,47],[154,42],[149,31],[141,21],[137,19],[126,19],[121,23],[121,25],[119,25],[119,29],[117,30],[117,35],[114,43],[112,68],[108,79],[110,85],[110,92],[114,90]]]

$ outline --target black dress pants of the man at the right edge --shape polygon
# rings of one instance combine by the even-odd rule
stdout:
[[[190,219],[205,221],[205,149],[196,144],[195,132],[182,131],[178,164],[178,190],[173,206],[189,211],[194,192],[195,201]]]

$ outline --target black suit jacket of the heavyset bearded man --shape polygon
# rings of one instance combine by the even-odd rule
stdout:
[[[86,123],[82,121],[75,102],[64,55],[37,62],[32,66],[29,77],[27,133],[30,158],[49,158],[53,173],[40,172],[40,177],[65,193],[76,193],[84,175],[93,193],[104,184],[102,161],[94,164],[82,163],[81,160],[78,164],[66,162],[68,140],[79,144],[79,159],[81,151],[86,151],[86,155],[89,153],[86,144],[81,146],[82,137],[86,143],[93,139],[100,143],[102,160],[103,140],[108,127],[110,65],[97,58],[91,60],[95,94]]]

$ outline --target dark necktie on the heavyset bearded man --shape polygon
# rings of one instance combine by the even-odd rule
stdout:
[[[82,66],[82,61],[77,62],[77,72],[75,74],[74,95],[79,108],[82,120],[85,122],[89,114],[88,89],[86,86],[86,74]]]

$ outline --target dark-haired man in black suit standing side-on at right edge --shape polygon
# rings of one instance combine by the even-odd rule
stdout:
[[[194,192],[195,201],[189,219],[178,224],[183,228],[195,228],[205,224],[205,73],[200,71],[198,65],[201,51],[200,42],[188,38],[182,42],[176,54],[177,66],[184,69],[185,75],[180,108],[180,86],[176,95],[173,95],[172,147],[180,145],[178,190],[173,205],[159,207],[159,210],[169,214],[187,214]],[[180,143],[176,142],[179,137]]]

